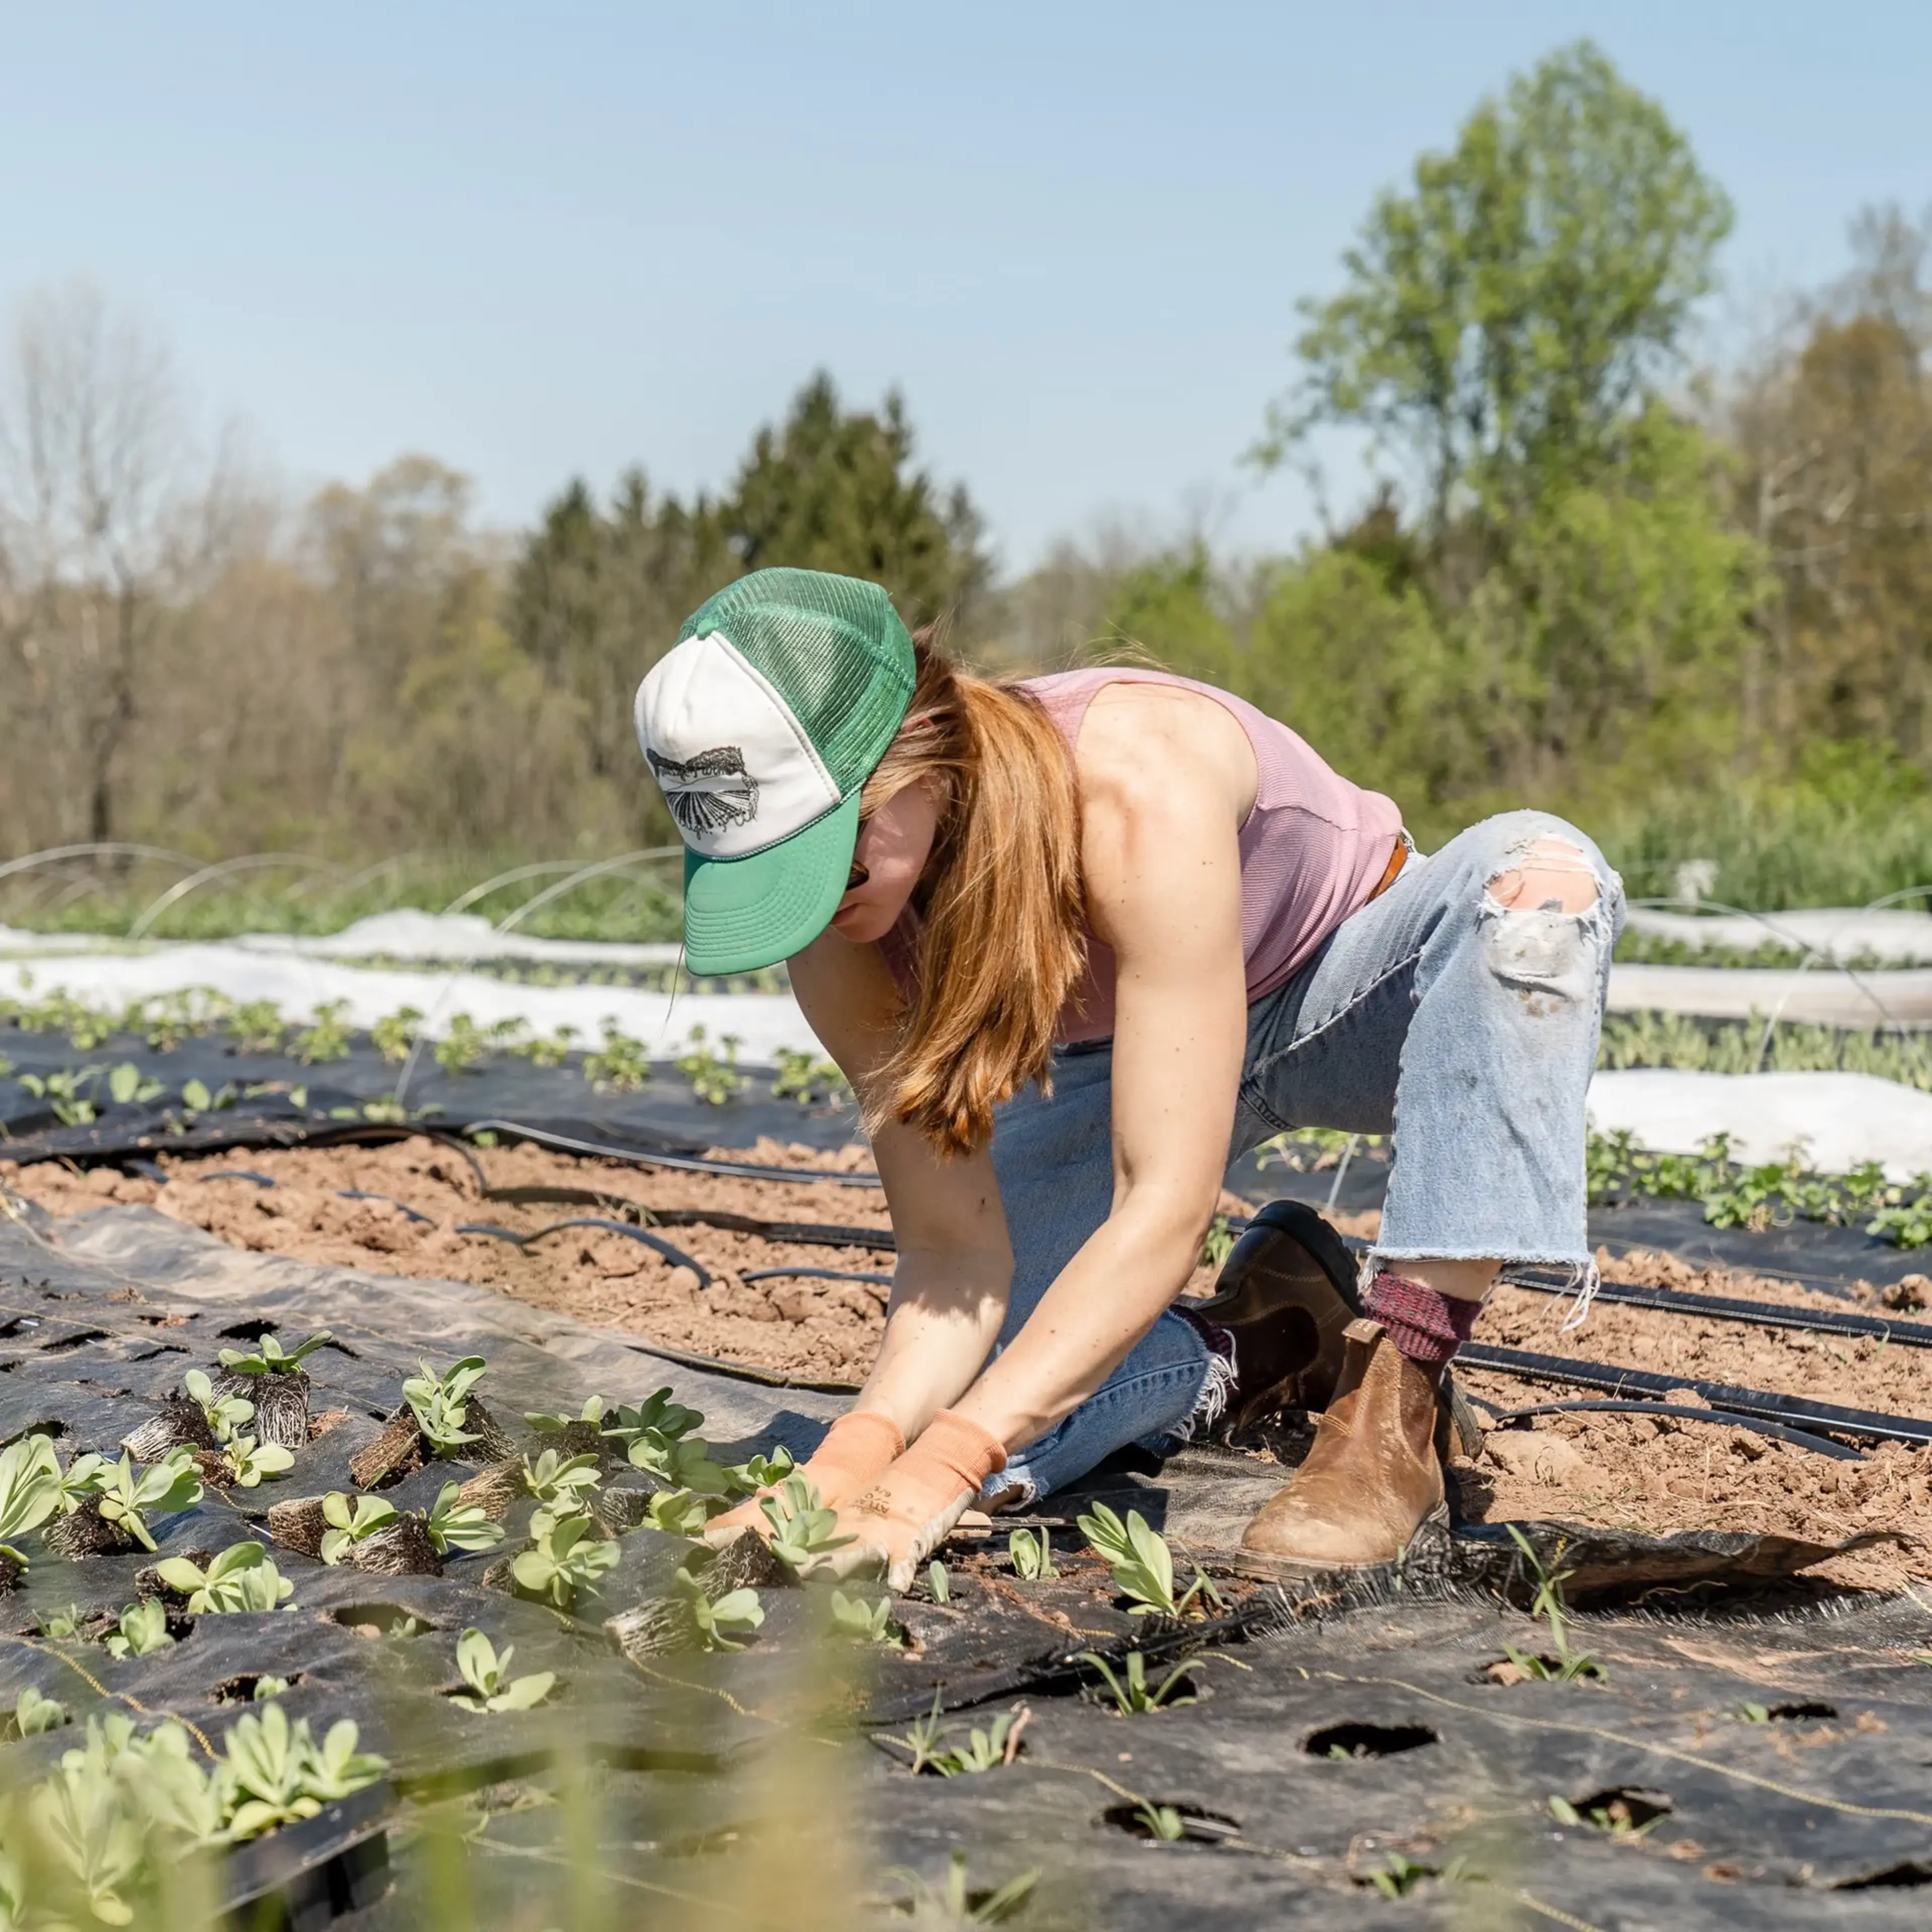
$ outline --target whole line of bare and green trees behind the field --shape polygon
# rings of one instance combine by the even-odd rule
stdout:
[[[1318,535],[1066,543],[1007,583],[896,394],[817,375],[717,495],[574,481],[506,535],[425,456],[290,508],[193,454],[139,325],[46,292],[0,371],[0,850],[657,842],[632,692],[786,562],[1003,667],[1132,649],[1238,690],[1426,838],[1538,802],[1654,891],[1708,850],[1735,893],[1833,896],[1772,877],[1804,838],[1932,877],[1932,224],[1859,216],[1851,270],[1712,369],[1729,226],[1663,110],[1563,48],[1378,197],[1258,398],[1248,460],[1310,479]],[[1370,487],[1329,512],[1337,437]]]

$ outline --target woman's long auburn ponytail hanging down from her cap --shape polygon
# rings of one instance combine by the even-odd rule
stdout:
[[[1066,740],[1032,692],[960,670],[931,632],[914,653],[906,723],[862,808],[925,782],[939,821],[914,895],[918,995],[873,1111],[941,1153],[972,1153],[1003,1099],[1049,1082],[1061,1009],[1086,966],[1080,794]]]

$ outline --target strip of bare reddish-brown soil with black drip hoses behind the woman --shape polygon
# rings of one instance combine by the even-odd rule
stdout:
[[[724,1153],[726,1150],[719,1150]],[[763,1165],[850,1169],[864,1155],[825,1155],[763,1142],[730,1157]],[[491,1148],[477,1159],[493,1186],[593,1188],[651,1209],[707,1209],[767,1221],[889,1227],[885,1200],[869,1188],[815,1180],[734,1180],[616,1161],[574,1159],[539,1148]],[[481,1196],[468,1161],[427,1140],[381,1148],[261,1150],[245,1155],[162,1159],[168,1186],[106,1169],[73,1173],[52,1163],[14,1169],[0,1182],[52,1213],[106,1202],[145,1202],[236,1246],[298,1256],[371,1273],[427,1275],[497,1287],[541,1308],[657,1343],[811,1379],[856,1381],[883,1327],[883,1283],[790,1277],[746,1281],[746,1273],[831,1267],[889,1275],[891,1256],[871,1248],[773,1242],[715,1227],[659,1233],[711,1269],[699,1291],[690,1269],[599,1229],[570,1229],[520,1250],[456,1233],[489,1221],[533,1233],[587,1206],[512,1206]],[[253,1169],[276,1186],[203,1179]],[[412,1221],[379,1200],[388,1196],[425,1215]],[[1231,1213],[1248,1211],[1229,1196]],[[1337,1215],[1350,1235],[1374,1236],[1378,1215]],[[1843,1300],[1783,1281],[1735,1271],[1698,1271],[1663,1254],[1600,1256],[1609,1281],[1640,1281],[1781,1304],[1845,1308]],[[1190,1291],[1209,1287],[1202,1269]],[[1876,1304],[1876,1296],[1870,1298]],[[1569,1302],[1499,1289],[1476,1329],[1480,1341],[1542,1354],[1733,1381],[1758,1389],[1899,1414],[1932,1416],[1932,1356],[1897,1343],[1762,1329],[1598,1302],[1580,1329],[1563,1331]],[[1497,1406],[1563,1401],[1584,1391],[1540,1387],[1468,1372],[1464,1385]],[[1696,1406],[1694,1397],[1685,1397]],[[1476,1517],[1555,1517],[1638,1530],[1743,1528],[1812,1542],[1841,1542],[1866,1530],[1897,1532],[1905,1546],[1878,1546],[1826,1565],[1841,1584],[1897,1588],[1932,1577],[1932,1451],[1886,1447],[1862,1463],[1833,1463],[1748,1430],[1650,1416],[1544,1416],[1530,1428],[1497,1430],[1476,1463],[1459,1466],[1463,1503]]]

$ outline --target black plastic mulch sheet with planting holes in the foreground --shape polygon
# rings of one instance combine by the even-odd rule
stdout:
[[[311,1416],[342,1418],[276,1482],[156,1524],[162,1551],[265,1538],[270,1503],[348,1490],[419,1356],[483,1354],[477,1395],[518,1449],[535,1447],[524,1410],[576,1410],[591,1393],[639,1401],[668,1385],[728,1459],[781,1439],[804,1451],[835,1406],[655,1360],[475,1287],[238,1254],[139,1208],[71,1221],[15,1208],[0,1225],[0,1439],[44,1428],[64,1455],[112,1451],[224,1341],[272,1329],[292,1345],[315,1327],[336,1347],[309,1356]],[[384,1495],[423,1507],[468,1474],[433,1463]],[[1041,1874],[1020,1926],[1917,1922],[1932,1897],[1932,1607],[1812,1588],[1797,1573],[1826,1551],[1787,1538],[1526,1524],[1546,1559],[1563,1544],[1580,1605],[1571,1654],[1602,1673],[1542,1681],[1509,1658],[1548,1654],[1551,1638],[1520,1607],[1532,1578],[1497,1528],[1349,1584],[1285,1594],[1233,1575],[1223,1553],[1277,1478],[1208,1449],[1101,1474],[1043,1503],[1059,1577],[1016,1577],[1005,1524],[956,1542],[947,1600],[904,1600],[910,1642],[875,1652],[825,1652],[823,1592],[767,1582],[744,1652],[622,1654],[607,1619],[661,1598],[694,1557],[639,1528],[574,1613],[487,1582],[500,1551],[384,1577],[278,1548],[294,1611],[178,1619],[174,1648],[116,1662],[37,1627],[70,1605],[83,1621],[118,1613],[153,1559],[37,1549],[23,1588],[0,1598],[0,1700],[23,1685],[75,1714],[131,1700],[218,1741],[272,1673],[290,1679],[290,1716],[354,1718],[402,1795],[394,1889],[340,1920],[354,1932],[440,1922],[435,1884],[468,1886],[483,1926],[556,1922],[518,1915],[554,1897],[560,1859],[620,1903],[703,1903],[779,1830],[800,1764],[827,1830],[854,1839],[883,1922],[916,1884],[941,1882],[956,1847],[976,1886]],[[643,1478],[620,1464],[612,1480]],[[1163,1526],[1182,1577],[1204,1565],[1223,1602],[1200,1623],[1128,1615],[1070,1524],[1095,1495]],[[527,1513],[512,1505],[504,1549]],[[495,1716],[452,1704],[469,1625],[514,1642],[518,1671],[554,1671],[560,1702]],[[1159,1714],[1119,1716],[1103,1694],[1090,1658],[1119,1673],[1130,1648],[1151,1685],[1186,1671]],[[1024,1704],[1012,1762],[916,1776],[902,1741],[935,1702],[954,1743]],[[25,1777],[66,1741],[27,1739],[0,1762]],[[560,1758],[593,1768],[587,1835],[558,1801]],[[1167,1808],[1182,1837],[1148,1841],[1144,1806]],[[887,1876],[895,1866],[922,1878]]]

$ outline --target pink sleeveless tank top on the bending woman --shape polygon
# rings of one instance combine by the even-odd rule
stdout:
[[[1097,692],[1109,684],[1179,684],[1233,713],[1254,746],[1254,810],[1240,829],[1240,951],[1248,1003],[1273,993],[1350,912],[1376,895],[1403,831],[1393,798],[1364,792],[1331,771],[1308,744],[1233,692],[1167,670],[1099,665],[1028,678],[1072,750]],[[879,941],[900,993],[918,989],[918,914],[908,906]],[[1061,1012],[1063,1041],[1113,1034],[1113,951],[1088,935],[1086,976]]]

